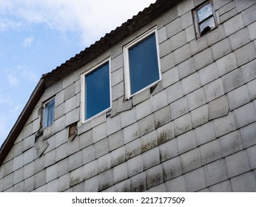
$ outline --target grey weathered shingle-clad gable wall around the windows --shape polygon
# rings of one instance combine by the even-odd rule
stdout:
[[[214,0],[220,24],[196,40],[201,2],[182,1],[47,89],[0,168],[0,191],[256,191],[256,3]],[[155,25],[162,80],[124,101],[122,47]],[[80,124],[80,75],[108,57],[112,110]],[[38,109],[54,95],[55,121],[35,143]]]

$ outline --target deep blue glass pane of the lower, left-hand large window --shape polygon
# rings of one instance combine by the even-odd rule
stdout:
[[[109,63],[85,76],[85,118],[91,118],[110,108]]]

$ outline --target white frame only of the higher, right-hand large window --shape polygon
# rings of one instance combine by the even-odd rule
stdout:
[[[131,94],[130,90],[130,76],[129,76],[129,48],[134,46],[135,44],[138,44],[138,42],[143,41],[144,38],[148,37],[149,35],[152,35],[152,33],[155,33],[155,44],[156,44],[156,52],[157,52],[157,58],[158,58],[158,75],[159,79],[158,81],[155,81],[152,84],[149,84],[149,86],[144,87],[143,89],[139,90],[138,92],[135,92],[134,94]],[[159,44],[158,44],[158,30],[157,27],[153,27],[151,30],[147,31],[146,33],[140,35],[138,38],[135,38],[135,40],[129,42],[129,44],[125,45],[123,47],[124,52],[124,86],[125,86],[125,97],[126,99],[131,98],[133,95],[136,95],[149,87],[157,84],[162,79],[161,75],[161,64],[160,64],[160,55],[159,55]]]

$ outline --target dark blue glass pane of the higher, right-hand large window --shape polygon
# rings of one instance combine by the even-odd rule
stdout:
[[[129,48],[131,95],[159,80],[155,33]]]

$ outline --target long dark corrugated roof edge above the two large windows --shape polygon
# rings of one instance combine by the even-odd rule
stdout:
[[[143,11],[139,12],[136,16],[133,16],[132,19],[129,19],[120,27],[117,27],[115,30],[107,33],[99,41],[96,41],[95,44],[87,47],[73,58],[70,58],[70,60],[66,61],[64,64],[61,64],[61,66],[56,67],[52,72],[45,74],[44,78],[46,79],[46,88],[52,86],[57,81],[60,81],[65,76],[69,75],[70,72],[73,72],[89,63],[94,58],[98,57],[98,55],[103,54],[109,50],[110,47],[118,44],[122,39],[132,33],[135,33],[137,30],[141,29],[141,27],[149,24],[150,21],[154,20],[158,16],[161,16],[178,2],[178,0],[158,0],[155,1],[154,4],[150,4],[149,7],[146,7]]]

